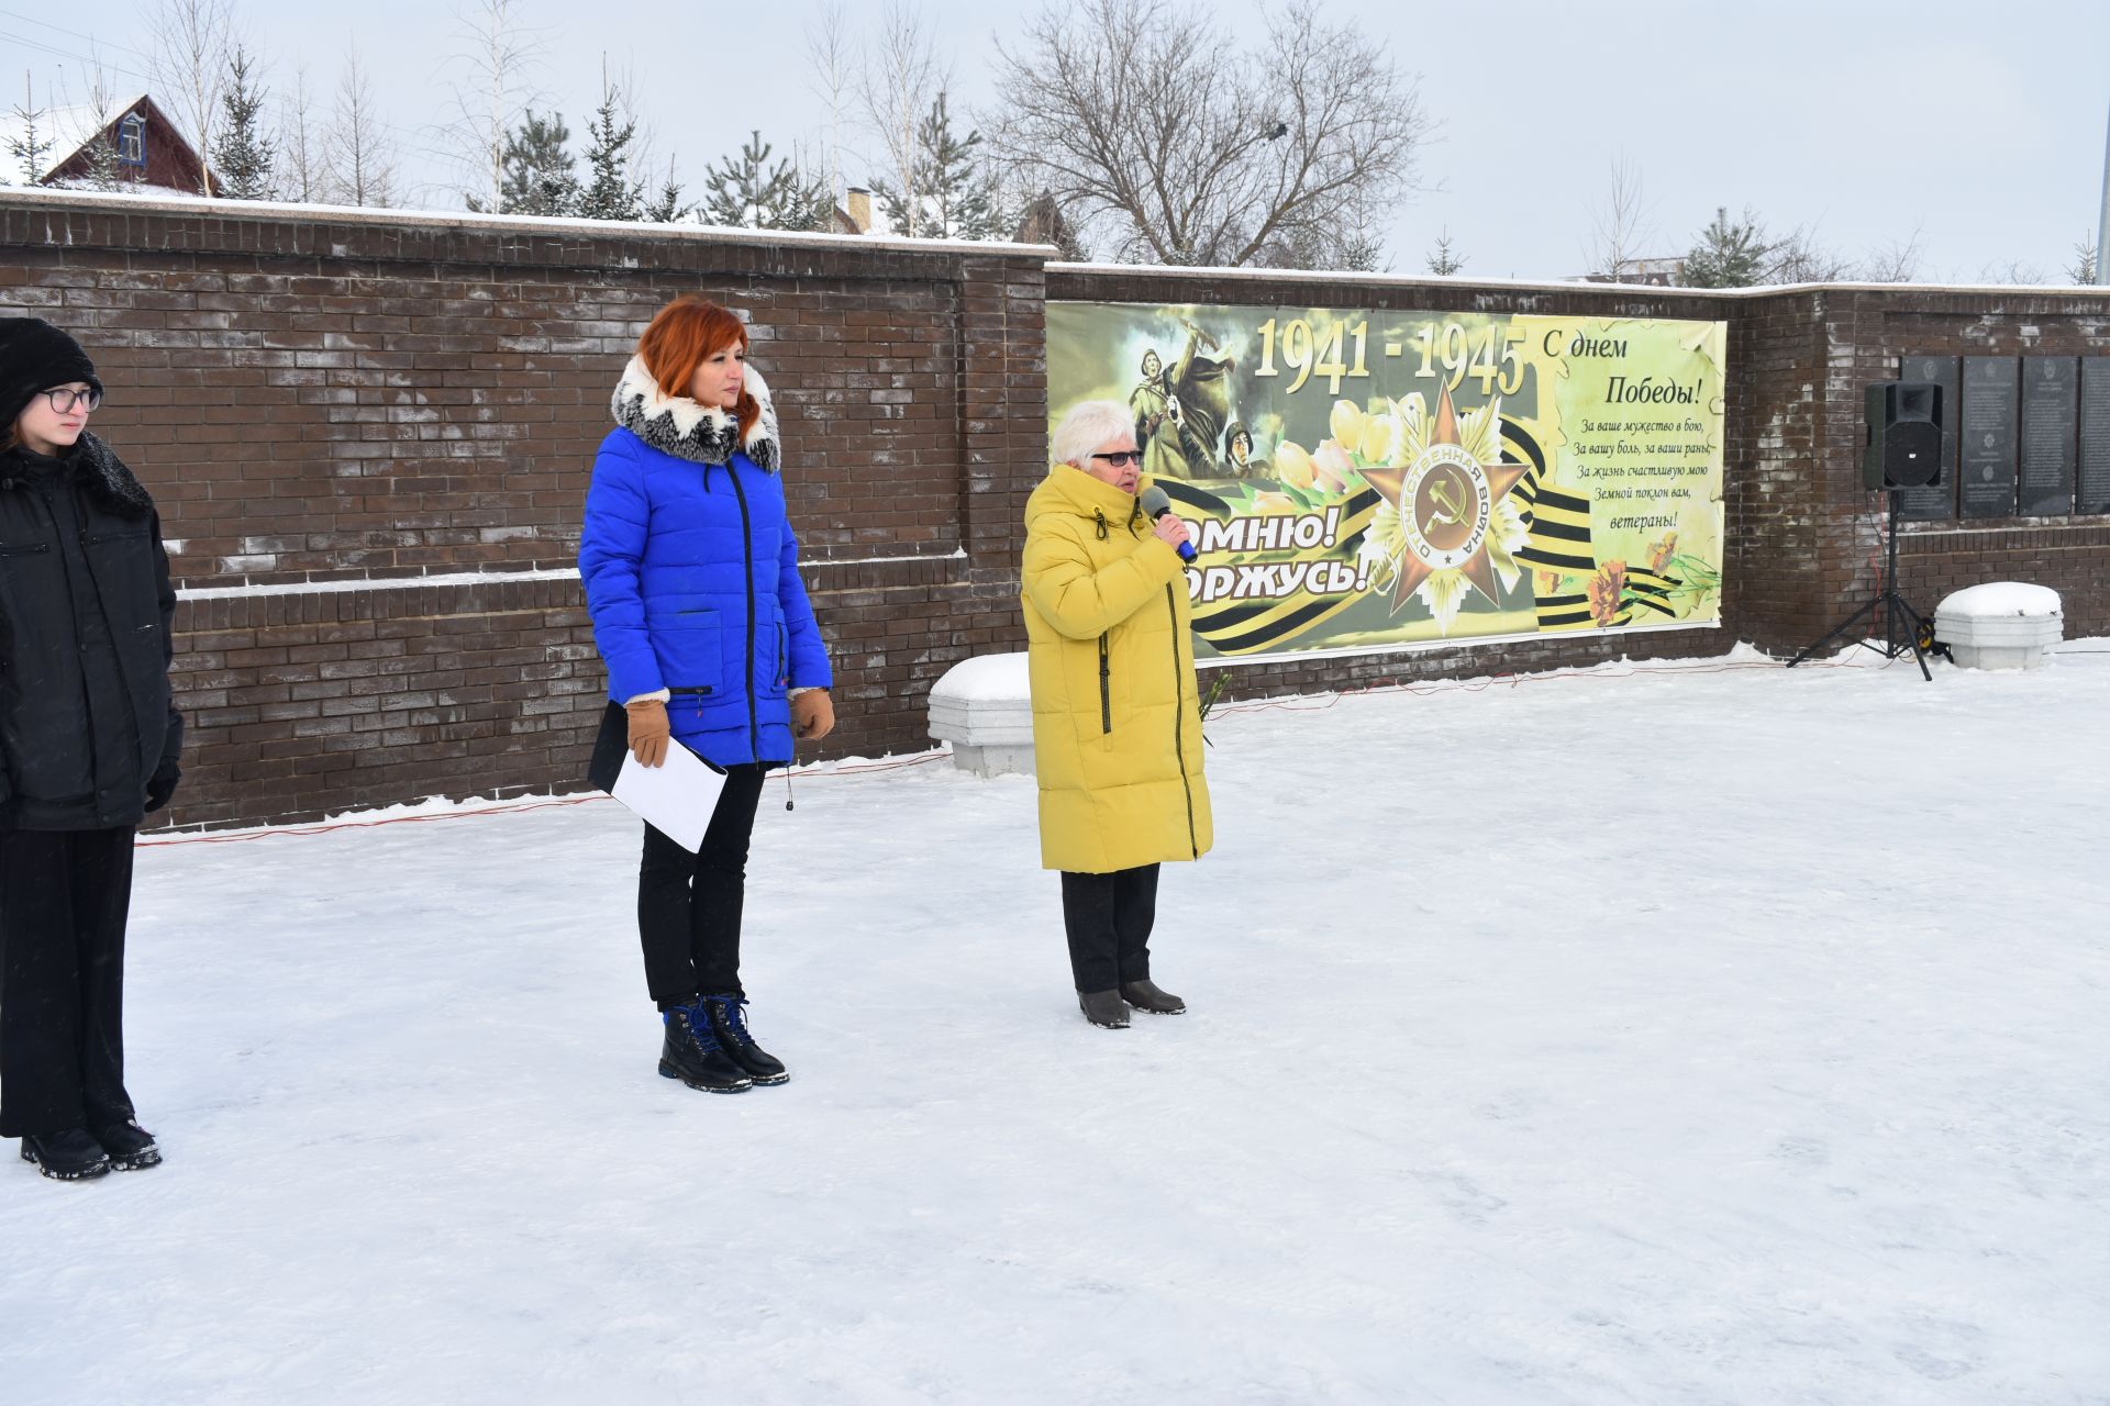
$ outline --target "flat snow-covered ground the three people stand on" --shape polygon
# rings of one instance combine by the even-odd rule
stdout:
[[[654,1075],[608,801],[152,847],[169,1161],[8,1151],[0,1398],[2110,1402],[2106,717],[2093,653],[1224,712],[1123,1033],[1030,780],[772,782],[732,1098]]]

